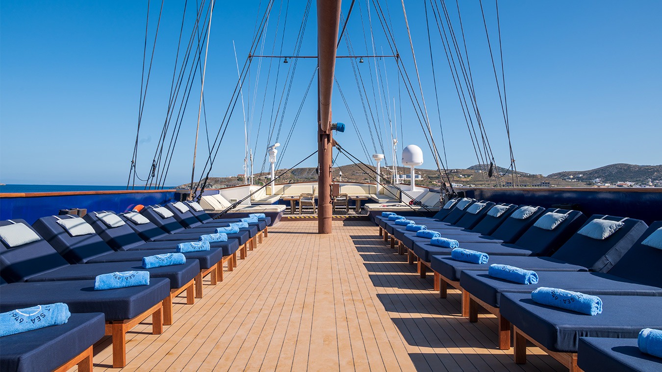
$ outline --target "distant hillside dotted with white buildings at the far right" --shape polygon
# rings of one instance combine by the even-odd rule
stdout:
[[[549,178],[576,179],[580,182],[636,182],[662,180],[662,165],[612,164],[590,170],[572,170],[549,174]]]

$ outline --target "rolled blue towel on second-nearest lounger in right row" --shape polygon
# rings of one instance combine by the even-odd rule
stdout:
[[[602,313],[602,300],[598,296],[566,291],[565,289],[540,287],[531,292],[531,299],[543,305],[560,307],[587,315]]]

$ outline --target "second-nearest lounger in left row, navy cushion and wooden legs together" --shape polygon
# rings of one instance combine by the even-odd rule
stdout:
[[[0,273],[3,278],[4,272]],[[106,336],[113,337],[113,367],[126,365],[126,332],[152,317],[152,333],[163,330],[162,303],[170,283],[154,278],[149,285],[95,291],[94,280],[39,281],[0,285],[0,312],[62,302],[71,313],[104,313]]]

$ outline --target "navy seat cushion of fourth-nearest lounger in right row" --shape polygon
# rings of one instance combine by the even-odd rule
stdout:
[[[555,272],[586,272],[587,268],[568,264],[551,257],[526,257],[526,256],[491,256],[487,264],[471,264],[469,262],[456,261],[449,256],[432,256],[430,267],[444,278],[459,281],[463,270],[475,270],[487,272],[491,264],[502,264],[516,266],[526,270],[555,271]]]

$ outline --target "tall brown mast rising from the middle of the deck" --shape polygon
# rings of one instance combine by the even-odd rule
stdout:
[[[317,56],[319,71],[317,87],[319,106],[318,120],[318,222],[317,232],[331,233],[333,206],[331,204],[331,164],[333,137],[331,131],[331,93],[333,91],[334,69],[336,67],[336,45],[340,25],[341,0],[317,0]]]

